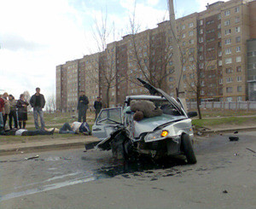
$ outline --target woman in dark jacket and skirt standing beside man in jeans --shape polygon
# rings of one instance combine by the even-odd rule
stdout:
[[[16,107],[18,107],[18,119],[19,119],[19,126],[21,129],[21,122],[23,121],[22,129],[26,129],[26,120],[27,120],[27,109],[26,107],[29,105],[26,102],[25,96],[23,94],[20,95],[20,99],[18,100]]]

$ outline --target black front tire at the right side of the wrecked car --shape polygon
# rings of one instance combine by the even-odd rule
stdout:
[[[182,142],[183,152],[186,155],[188,164],[195,164],[196,163],[195,153],[194,153],[194,149],[192,147],[192,143],[189,138],[189,135],[183,134],[181,142]]]

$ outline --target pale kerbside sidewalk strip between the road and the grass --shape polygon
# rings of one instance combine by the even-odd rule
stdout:
[[[234,132],[234,131],[256,131],[256,126],[239,126],[224,129],[212,129],[201,131],[202,134],[214,134],[223,132]],[[196,131],[195,131],[196,136]],[[32,142],[6,142],[1,145],[0,156],[7,154],[20,154],[23,152],[34,152],[35,150],[44,151],[49,149],[61,149],[61,148],[84,148],[84,144],[92,142],[98,142],[98,138],[94,136],[84,136],[79,138],[51,138],[44,141],[32,141]]]

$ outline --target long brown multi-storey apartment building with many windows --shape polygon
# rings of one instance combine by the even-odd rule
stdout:
[[[57,66],[58,109],[72,110],[79,90],[85,90],[90,106],[96,96],[108,107],[119,106],[127,95],[148,93],[136,78],[148,80],[171,96],[182,85],[187,101],[195,101],[197,95],[205,101],[253,99],[255,5],[250,0],[208,4],[205,11],[176,20],[177,39],[167,20],[108,44],[105,51]],[[177,43],[181,69],[178,58],[173,59]]]

